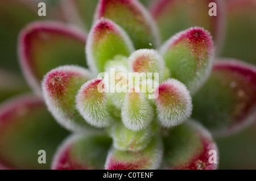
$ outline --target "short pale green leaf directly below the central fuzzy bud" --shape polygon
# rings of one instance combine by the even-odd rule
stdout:
[[[123,151],[139,151],[151,141],[151,126],[142,131],[131,131],[122,122],[118,122],[111,128],[111,137],[115,149]]]

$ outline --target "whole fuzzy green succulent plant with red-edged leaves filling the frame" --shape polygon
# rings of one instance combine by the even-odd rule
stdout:
[[[0,169],[212,170],[255,122],[253,0],[44,2],[0,0]]]

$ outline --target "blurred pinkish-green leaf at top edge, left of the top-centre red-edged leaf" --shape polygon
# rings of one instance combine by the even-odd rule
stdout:
[[[62,0],[65,19],[90,30],[98,0]]]

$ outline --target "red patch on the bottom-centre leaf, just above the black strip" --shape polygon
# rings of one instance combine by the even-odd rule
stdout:
[[[141,159],[135,162],[115,161],[110,159],[109,165],[106,170],[140,170],[147,163],[145,159]]]

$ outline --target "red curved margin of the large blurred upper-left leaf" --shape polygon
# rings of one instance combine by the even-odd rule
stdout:
[[[41,81],[41,77],[38,74],[38,70],[36,70],[36,65],[33,60],[33,44],[37,39],[47,39],[48,33],[57,36],[68,36],[72,39],[77,39],[77,41],[80,41],[82,44],[86,42],[84,32],[57,22],[35,22],[24,28],[19,35],[19,59],[23,73],[34,89],[38,89],[36,85]],[[40,90],[36,90],[36,92],[39,93]]]

